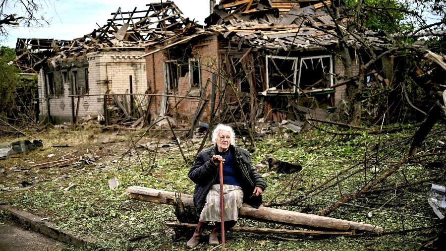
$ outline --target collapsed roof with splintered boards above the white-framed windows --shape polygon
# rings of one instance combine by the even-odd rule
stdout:
[[[331,0],[222,0],[205,22],[209,29],[238,41],[239,48],[274,50],[322,49],[339,43],[334,18],[327,11]],[[349,35],[343,18],[338,27],[346,42],[357,43]],[[375,48],[387,47],[389,40],[377,33],[366,32],[367,40]]]

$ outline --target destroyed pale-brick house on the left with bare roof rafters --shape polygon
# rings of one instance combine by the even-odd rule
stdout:
[[[145,113],[147,96],[112,94],[149,93],[146,63],[140,56],[147,44],[173,36],[187,25],[195,26],[181,14],[171,1],[149,3],[144,9],[118,8],[106,25],[72,41],[20,39],[18,51],[32,46],[45,49],[44,53],[26,50],[18,56],[31,58],[21,64],[38,71],[40,118],[74,122],[103,116],[112,105],[125,110],[127,117]]]

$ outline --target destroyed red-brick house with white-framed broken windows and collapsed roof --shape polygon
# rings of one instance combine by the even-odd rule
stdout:
[[[196,119],[209,121],[209,111],[224,93],[224,113],[230,111],[240,120],[243,114],[238,108],[244,107],[253,122],[297,119],[295,108],[336,106],[346,99],[345,85],[336,87],[345,77],[345,66],[337,56],[340,42],[326,10],[330,4],[330,0],[220,1],[206,18],[204,30],[182,30],[178,37],[146,47],[147,80],[153,89],[202,97],[181,105],[165,98],[157,107],[162,114],[189,121],[198,110],[205,110],[207,118]],[[361,47],[354,37],[345,36],[347,43]],[[377,51],[389,45],[376,33],[367,33],[365,39]],[[355,58],[352,62],[350,73],[356,75],[359,63]],[[201,109],[202,104],[210,107]]]

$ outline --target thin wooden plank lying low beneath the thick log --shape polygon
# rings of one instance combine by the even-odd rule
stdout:
[[[166,222],[167,227],[184,227],[196,228],[197,224],[182,223],[182,222]],[[207,225],[206,229],[213,229],[214,226]],[[254,227],[239,227],[235,226],[228,231],[232,232],[250,232],[258,234],[282,234],[282,235],[354,235],[355,231],[316,231],[316,230],[292,230],[292,229],[274,229],[274,228],[254,228]]]

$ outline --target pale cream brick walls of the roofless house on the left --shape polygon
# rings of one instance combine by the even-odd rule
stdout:
[[[78,81],[81,83],[81,81],[85,82],[84,69],[88,67],[89,94],[103,94],[106,93],[107,88],[110,89],[110,93],[129,92],[129,76],[132,75],[133,93],[145,93],[147,90],[145,60],[136,59],[143,54],[143,51],[93,52],[86,55],[84,67],[79,67],[79,63],[85,59],[78,59],[77,61],[68,59],[59,63],[56,69],[47,68],[46,72],[51,71],[55,76],[59,76],[62,70],[67,70],[68,76],[70,76],[70,71],[73,69],[71,65],[74,64],[77,65],[75,68],[78,70]],[[39,97],[45,97],[46,94],[44,71],[43,69],[40,70],[38,75]],[[55,77],[55,81],[61,80]],[[71,97],[68,97],[71,94],[70,81],[63,83],[63,95],[53,96],[50,99],[51,115],[63,121],[71,121],[72,119]],[[74,98],[74,109],[77,106],[77,99],[77,97]],[[41,100],[40,105],[40,117],[43,118],[47,113],[46,101]],[[104,97],[102,96],[80,97],[78,117],[103,114],[103,106]]]

